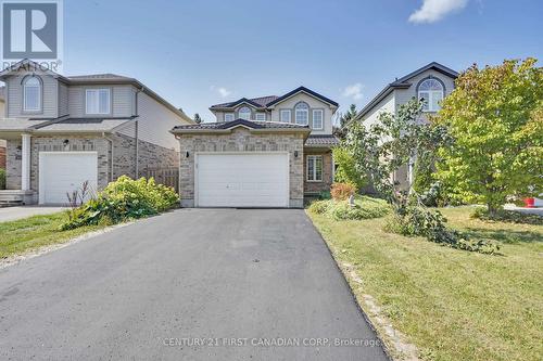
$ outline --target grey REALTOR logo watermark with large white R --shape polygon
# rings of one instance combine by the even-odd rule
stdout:
[[[63,55],[62,0],[1,0],[2,68],[28,59],[59,72]]]

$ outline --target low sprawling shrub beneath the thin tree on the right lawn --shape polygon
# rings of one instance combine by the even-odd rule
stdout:
[[[495,243],[469,240],[466,234],[447,228],[445,223],[445,217],[438,210],[407,206],[389,220],[386,230],[407,236],[425,236],[430,242],[464,250],[482,254],[498,252],[500,247]]]

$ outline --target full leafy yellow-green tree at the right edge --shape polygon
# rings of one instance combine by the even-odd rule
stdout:
[[[536,60],[477,65],[456,80],[434,121],[452,146],[440,150],[437,177],[489,215],[508,196],[538,195],[543,176],[543,70]]]

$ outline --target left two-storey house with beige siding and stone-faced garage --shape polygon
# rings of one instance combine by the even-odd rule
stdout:
[[[25,60],[0,80],[10,190],[0,191],[0,201],[65,204],[85,181],[101,190],[122,175],[179,165],[168,131],[192,120],[134,78],[65,77]]]

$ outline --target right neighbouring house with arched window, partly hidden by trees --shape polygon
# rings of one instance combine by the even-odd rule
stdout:
[[[421,120],[426,120],[427,114],[435,114],[440,109],[441,101],[453,91],[454,80],[457,77],[458,73],[455,70],[435,62],[430,63],[387,85],[358,113],[356,119],[369,127],[379,120],[380,114],[384,112],[396,114],[401,105],[417,98],[425,100]],[[392,176],[400,184],[409,184],[413,179],[413,163]]]

